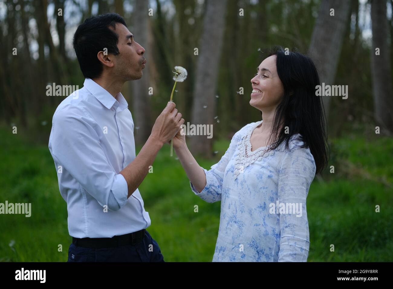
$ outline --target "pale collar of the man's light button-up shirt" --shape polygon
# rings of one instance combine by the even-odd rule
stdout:
[[[116,105],[116,109],[120,107],[121,110],[128,107],[128,103],[123,94],[119,92],[115,99],[107,90],[105,90],[105,88],[101,87],[90,78],[86,78],[84,80],[83,87],[86,87],[86,89],[107,109],[112,108],[113,105]]]

